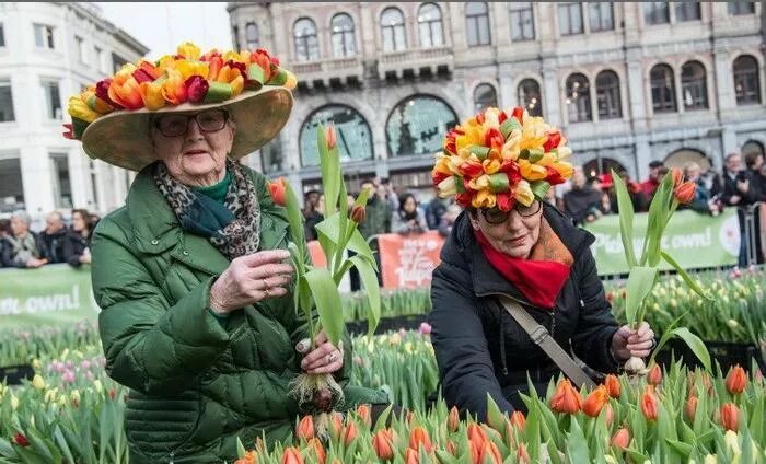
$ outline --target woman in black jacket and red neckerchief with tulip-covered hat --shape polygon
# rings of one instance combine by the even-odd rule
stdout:
[[[487,394],[510,413],[523,408],[527,374],[544,391],[561,373],[499,295],[515,300],[559,346],[601,372],[649,356],[654,336],[646,324],[617,326],[590,251],[593,235],[542,200],[550,184],[571,176],[564,138],[521,111],[487,112],[448,135],[432,173],[441,196],[455,195],[465,210],[433,272],[429,315],[442,394],[480,420]],[[507,123],[511,117],[517,121]],[[485,132],[471,132],[477,126]],[[525,140],[527,134],[537,137]]]

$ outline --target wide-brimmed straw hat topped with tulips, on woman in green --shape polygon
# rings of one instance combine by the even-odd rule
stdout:
[[[292,109],[295,77],[264,49],[205,55],[192,43],[152,62],[127,63],[69,98],[65,137],[91,158],[132,171],[155,161],[152,115],[221,107],[236,123],[231,153],[240,159],[274,139]]]

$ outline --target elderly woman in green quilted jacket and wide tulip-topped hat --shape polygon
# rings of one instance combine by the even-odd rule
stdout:
[[[264,50],[184,44],[70,100],[69,137],[139,171],[92,244],[106,369],[130,390],[131,463],[232,461],[237,438],[288,439],[311,413],[290,395],[302,371],[334,373],[346,407],[387,401],[348,385],[350,343],[298,352],[285,210],[236,162],[282,128],[292,86]]]

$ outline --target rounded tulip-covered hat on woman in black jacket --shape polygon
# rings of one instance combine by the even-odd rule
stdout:
[[[489,107],[450,130],[431,175],[439,196],[466,208],[510,211],[543,199],[572,176],[572,151],[558,129],[515,107]]]

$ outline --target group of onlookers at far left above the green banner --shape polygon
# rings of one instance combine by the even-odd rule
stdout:
[[[63,214],[50,212],[45,229],[31,230],[32,218],[20,210],[0,219],[0,267],[37,268],[67,263],[79,267],[91,263],[91,235],[98,218],[84,209],[71,211],[70,224]]]

